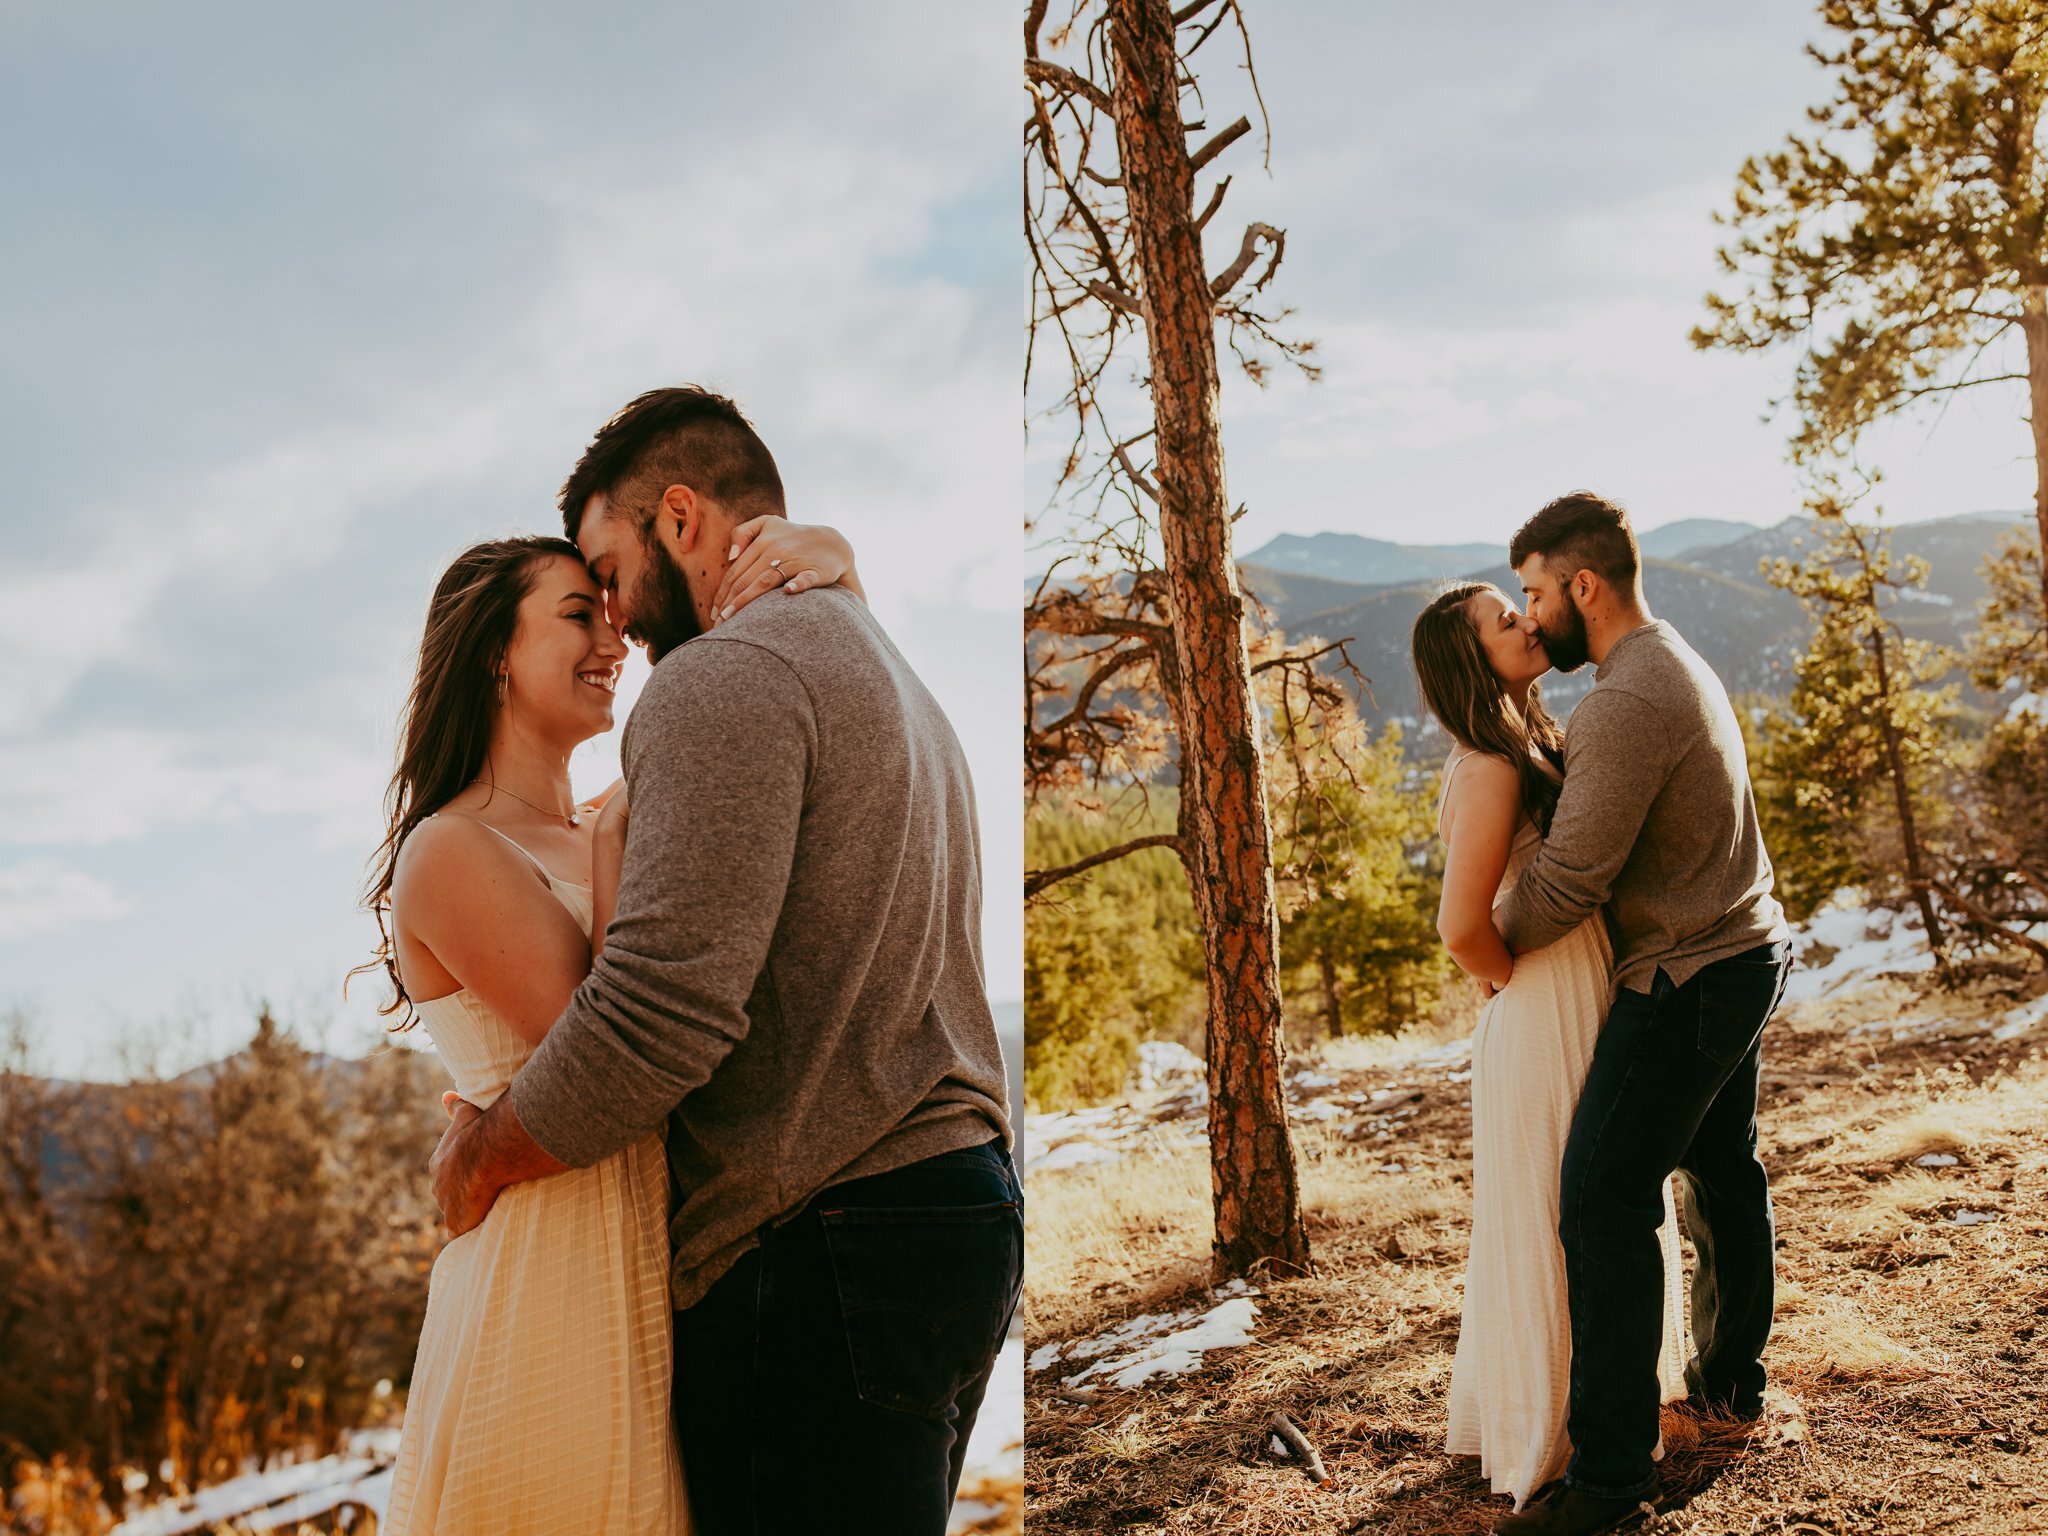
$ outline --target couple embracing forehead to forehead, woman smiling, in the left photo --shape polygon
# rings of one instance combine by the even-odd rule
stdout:
[[[938,1536],[1024,1264],[965,756],[729,399],[561,514],[434,590],[369,893],[455,1077],[383,1528]]]

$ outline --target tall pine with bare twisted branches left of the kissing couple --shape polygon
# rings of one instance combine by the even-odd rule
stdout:
[[[1069,504],[1094,492],[1096,504],[1081,514],[1092,532],[1075,541],[1090,580],[1049,584],[1026,612],[1028,641],[1051,649],[1055,670],[1085,657],[1071,705],[1042,721],[1049,662],[1028,651],[1026,764],[1034,782],[1057,780],[1073,754],[1098,752],[1104,731],[1120,735],[1122,719],[1102,731],[1092,723],[1092,700],[1112,682],[1143,674],[1163,700],[1180,823],[1104,850],[1090,868],[1137,848],[1180,856],[1208,989],[1212,1268],[1217,1278],[1264,1266],[1303,1272],[1309,1229],[1286,1124],[1272,825],[1231,551],[1217,332],[1253,379],[1266,356],[1303,362],[1307,346],[1278,338],[1280,315],[1260,311],[1284,233],[1249,223],[1235,256],[1212,268],[1204,229],[1229,176],[1196,201],[1206,166],[1251,123],[1206,127],[1194,57],[1233,29],[1255,90],[1249,33],[1233,0],[1178,10],[1167,0],[1071,0],[1053,27],[1049,10],[1051,0],[1028,0],[1024,16],[1024,385],[1028,395],[1036,348],[1057,350],[1067,387],[1049,414],[1073,430],[1059,489]],[[1143,406],[1133,414],[1143,426],[1120,432],[1110,418],[1130,401],[1106,377],[1116,358],[1137,362],[1135,348]],[[1145,444],[1149,465],[1135,457]],[[1077,872],[1034,870],[1026,893]]]

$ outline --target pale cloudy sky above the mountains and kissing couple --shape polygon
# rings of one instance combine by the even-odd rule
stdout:
[[[1243,139],[1210,264],[1282,225],[1274,293],[1321,344],[1317,385],[1227,385],[1237,549],[1278,532],[1499,541],[1561,492],[1640,526],[1778,522],[1800,506],[1784,424],[1792,354],[1696,352],[1735,172],[1778,147],[1827,78],[1800,0],[1546,6],[1247,6],[1272,174]],[[1255,117],[1204,49],[1206,121]],[[1202,178],[1198,199],[1212,176]],[[1987,367],[1987,373],[2005,369]],[[2034,500],[2017,385],[1874,434],[1894,520]],[[1034,438],[1034,500],[1057,434]]]

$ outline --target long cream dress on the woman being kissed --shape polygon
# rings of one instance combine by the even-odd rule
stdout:
[[[1468,756],[1444,774],[1446,797]],[[1495,907],[1538,852],[1542,834],[1524,821]],[[1513,977],[1487,1001],[1473,1032],[1473,1253],[1450,1370],[1446,1450],[1479,1456],[1481,1475],[1495,1493],[1511,1493],[1516,1509],[1563,1477],[1571,1460],[1571,1311],[1556,1235],[1559,1180],[1608,1016],[1612,967],[1608,928],[1595,913],[1548,948],[1518,954]],[[1657,1382],[1659,1399],[1669,1403],[1686,1395],[1686,1280],[1669,1180],[1657,1241],[1665,1262]]]

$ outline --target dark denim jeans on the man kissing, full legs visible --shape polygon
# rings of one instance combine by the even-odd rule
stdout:
[[[1571,1284],[1565,1481],[1581,1493],[1657,1487],[1657,1223],[1673,1169],[1700,1255],[1686,1382],[1712,1407],[1763,1409],[1776,1237],[1757,1161],[1757,1069],[1790,971],[1790,944],[1759,944],[1683,987],[1657,971],[1649,995],[1624,989],[1608,1010],[1565,1143],[1559,1219]]]

